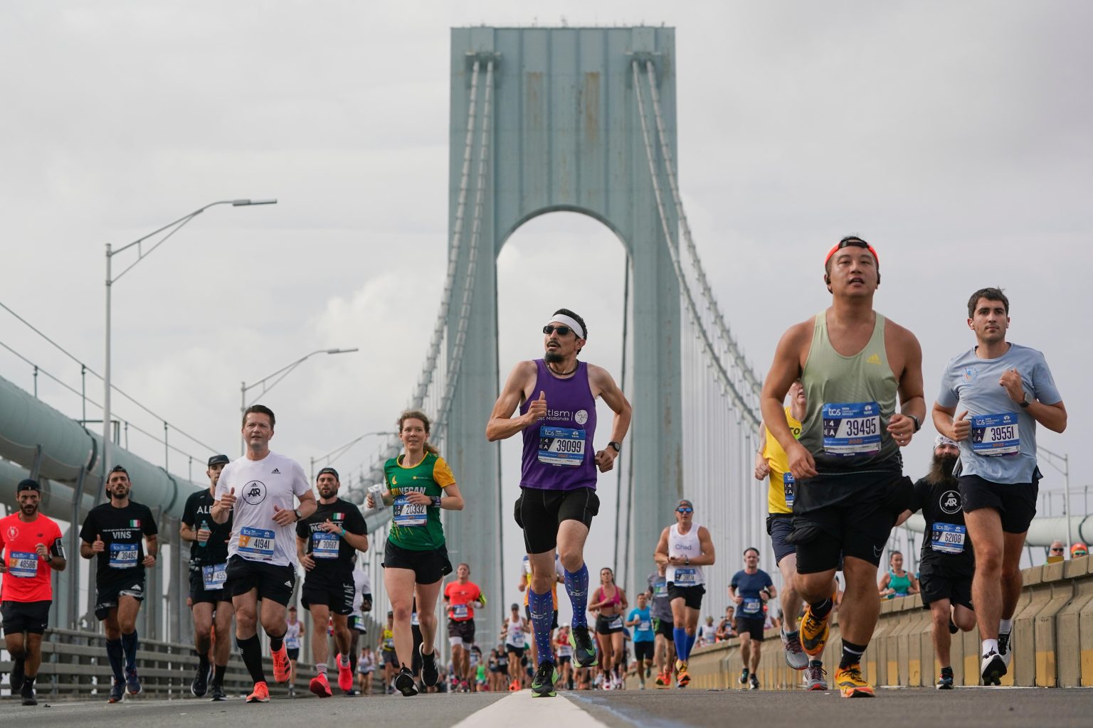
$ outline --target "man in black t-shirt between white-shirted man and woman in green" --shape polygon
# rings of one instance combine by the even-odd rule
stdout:
[[[318,508],[296,524],[296,559],[307,572],[301,604],[312,612],[312,659],[318,673],[308,689],[319,697],[333,694],[327,679],[329,622],[338,647],[334,656],[338,687],[349,695],[353,692],[349,617],[356,600],[353,563],[357,551],[368,550],[368,527],[356,505],[338,498],[341,488],[338,470],[332,467],[319,470],[315,488],[319,491]]]

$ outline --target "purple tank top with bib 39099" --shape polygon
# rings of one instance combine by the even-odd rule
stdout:
[[[546,417],[524,430],[520,487],[541,490],[596,488],[596,399],[588,385],[588,365],[577,362],[573,377],[559,379],[542,359],[536,389],[520,405],[527,414],[531,399],[546,393]]]

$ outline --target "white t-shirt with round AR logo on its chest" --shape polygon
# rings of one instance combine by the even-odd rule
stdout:
[[[296,524],[279,526],[273,521],[273,506],[291,511],[296,508],[295,498],[310,492],[312,486],[299,463],[274,452],[260,461],[240,457],[221,472],[216,500],[231,488],[235,488],[236,500],[228,558],[239,556],[279,566],[295,565]]]

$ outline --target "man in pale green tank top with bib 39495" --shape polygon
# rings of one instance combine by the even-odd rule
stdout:
[[[801,645],[810,657],[823,653],[843,558],[843,656],[835,683],[844,697],[871,697],[861,655],[880,614],[877,565],[909,499],[900,447],[910,443],[926,413],[922,353],[914,334],[873,310],[880,272],[869,243],[843,238],[827,253],[824,271],[832,306],[778,342],[763,385],[763,420],[796,482],[787,540],[797,547],[795,584],[809,604]],[[783,409],[797,380],[806,399],[799,441]]]

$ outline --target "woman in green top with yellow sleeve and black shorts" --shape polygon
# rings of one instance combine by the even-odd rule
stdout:
[[[422,636],[421,678],[432,687],[439,677],[434,648],[436,599],[440,580],[451,573],[440,509],[463,509],[456,478],[428,443],[428,417],[422,411],[407,410],[399,416],[399,439],[406,450],[384,465],[387,488],[380,493],[392,516],[384,549],[384,586],[395,612],[395,654],[402,666],[395,676],[395,688],[406,696],[418,694],[407,667],[413,664],[410,613],[414,596]],[[372,493],[365,505],[375,506]]]

